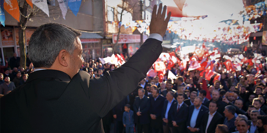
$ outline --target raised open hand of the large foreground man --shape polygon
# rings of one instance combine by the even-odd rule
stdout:
[[[162,3],[160,3],[158,11],[157,11],[157,5],[154,5],[153,11],[152,11],[151,22],[149,25],[150,34],[157,33],[157,34],[160,34],[162,37],[164,36],[167,30],[168,22],[171,17],[171,12],[169,12],[167,15],[167,18],[164,20],[165,14],[166,14],[166,8],[167,8],[166,5],[164,5],[163,11],[161,14]]]

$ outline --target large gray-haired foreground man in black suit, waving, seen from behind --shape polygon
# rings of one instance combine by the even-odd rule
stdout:
[[[166,6],[162,11],[160,4],[158,13],[156,8],[144,44],[99,78],[79,71],[84,63],[79,31],[56,23],[37,28],[28,49],[35,72],[1,98],[1,132],[103,133],[101,118],[136,89],[162,52],[171,13],[165,20]]]

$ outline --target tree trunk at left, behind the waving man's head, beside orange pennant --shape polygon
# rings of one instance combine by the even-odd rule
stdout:
[[[28,4],[24,1],[23,8],[20,8],[19,21],[19,50],[20,50],[20,67],[26,69],[26,52],[25,52],[25,28],[28,21],[27,16]]]

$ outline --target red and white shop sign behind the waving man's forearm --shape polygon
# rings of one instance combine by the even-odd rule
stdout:
[[[117,42],[118,34],[112,34],[112,43]],[[120,34],[118,44],[124,43],[140,43],[140,34]]]

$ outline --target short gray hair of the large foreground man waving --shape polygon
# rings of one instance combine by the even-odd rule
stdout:
[[[81,32],[63,24],[43,24],[34,31],[29,41],[29,59],[34,67],[49,68],[55,62],[60,50],[73,54],[74,42]]]

